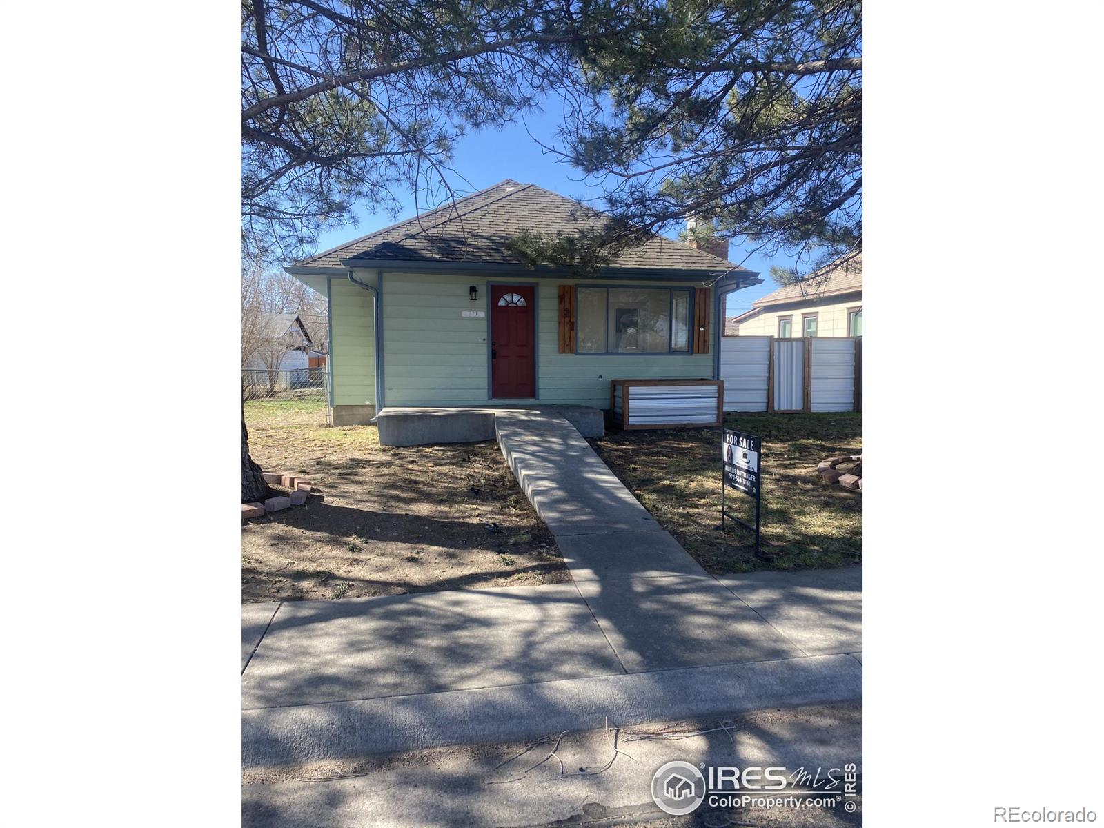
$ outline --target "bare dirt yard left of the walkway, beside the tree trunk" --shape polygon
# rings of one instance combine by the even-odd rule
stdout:
[[[374,426],[256,425],[250,448],[316,495],[243,523],[243,602],[571,580],[495,443],[385,448]]]

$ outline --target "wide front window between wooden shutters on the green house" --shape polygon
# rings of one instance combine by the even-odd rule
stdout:
[[[690,351],[690,290],[651,287],[580,287],[578,353]]]

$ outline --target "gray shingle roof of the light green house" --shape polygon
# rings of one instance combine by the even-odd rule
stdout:
[[[506,243],[522,230],[571,234],[602,223],[603,214],[534,184],[507,179],[413,219],[369,233],[297,263],[340,267],[343,259],[520,264]],[[608,269],[746,270],[712,253],[655,236],[624,252]]]

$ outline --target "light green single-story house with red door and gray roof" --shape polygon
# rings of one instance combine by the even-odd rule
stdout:
[[[384,406],[608,408],[613,379],[715,378],[718,294],[757,274],[660,236],[588,278],[507,246],[599,221],[507,180],[285,268],[328,299],[333,424]]]

